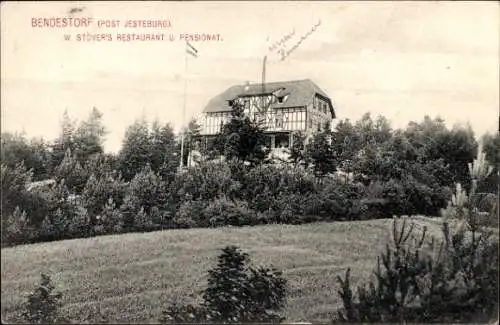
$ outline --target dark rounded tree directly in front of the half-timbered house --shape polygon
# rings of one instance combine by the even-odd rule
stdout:
[[[243,112],[243,106],[236,103],[231,120],[224,124],[216,139],[216,148],[227,159],[238,159],[256,165],[267,159],[270,149],[265,147],[263,128]]]

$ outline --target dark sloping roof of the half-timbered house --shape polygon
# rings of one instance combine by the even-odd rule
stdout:
[[[312,105],[314,96],[318,94],[319,96],[324,97],[324,99],[328,102],[332,115],[335,117],[335,110],[330,97],[310,79],[270,82],[265,84],[264,90],[265,94],[277,92],[277,95],[279,96],[289,95],[286,101],[283,103],[273,104],[270,108]],[[203,112],[229,112],[231,111],[231,106],[229,106],[228,101],[238,97],[255,96],[260,94],[263,94],[262,84],[260,83],[235,85],[212,98]]]

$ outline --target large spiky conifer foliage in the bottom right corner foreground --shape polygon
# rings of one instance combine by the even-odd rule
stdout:
[[[491,168],[479,152],[469,165],[471,192],[457,185],[443,222],[442,239],[426,240],[426,228],[415,237],[406,219],[393,224],[393,245],[380,255],[375,281],[358,286],[337,278],[344,307],[341,322],[488,321],[497,316],[498,238],[478,223],[481,196],[477,184]],[[450,222],[457,220],[452,229]]]

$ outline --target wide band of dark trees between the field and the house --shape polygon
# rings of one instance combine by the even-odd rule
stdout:
[[[199,133],[191,121],[184,164]],[[478,150],[470,127],[448,129],[426,117],[393,129],[366,114],[310,137],[294,134],[290,164],[277,166],[270,164],[265,130],[235,107],[204,150],[226,162],[179,173],[180,137],[169,124],[135,121],[116,154],[105,152],[105,136],[95,108],[79,123],[65,113],[52,142],[2,134],[2,228],[9,236],[29,242],[181,226],[438,215],[455,183],[470,184],[468,163]],[[499,136],[486,135],[482,143],[494,172],[480,191],[495,193]],[[347,176],[341,181],[338,172]],[[33,185],[42,180],[50,182]]]

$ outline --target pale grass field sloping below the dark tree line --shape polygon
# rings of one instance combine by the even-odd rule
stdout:
[[[435,220],[423,217],[438,231]],[[391,239],[392,221],[268,225],[124,234],[2,249],[2,318],[18,310],[40,273],[63,294],[63,313],[75,321],[155,322],[175,300],[193,302],[220,249],[238,245],[254,264],[281,269],[289,282],[284,316],[329,319],[340,306],[337,275],[352,268],[368,279]]]

